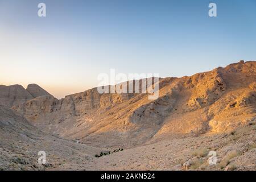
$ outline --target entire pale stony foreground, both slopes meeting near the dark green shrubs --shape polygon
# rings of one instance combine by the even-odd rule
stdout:
[[[163,140],[95,158],[102,150],[48,135],[0,106],[0,170],[256,170],[256,121],[229,134]],[[38,151],[47,164],[38,165]],[[208,152],[217,152],[216,166]]]

